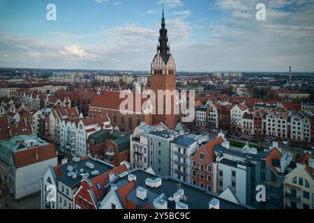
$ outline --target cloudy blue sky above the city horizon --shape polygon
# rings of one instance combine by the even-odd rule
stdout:
[[[150,70],[163,2],[179,71],[314,71],[314,0],[0,0],[0,67]]]

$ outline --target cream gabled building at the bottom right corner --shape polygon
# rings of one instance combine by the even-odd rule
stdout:
[[[285,209],[314,209],[314,160],[310,153],[297,160],[297,167],[283,182]]]

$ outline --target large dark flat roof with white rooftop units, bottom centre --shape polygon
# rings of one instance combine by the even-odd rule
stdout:
[[[135,169],[131,171],[130,174],[133,174],[136,176],[136,187],[130,191],[130,193],[126,196],[126,199],[128,199],[129,201],[132,201],[133,203],[136,203],[138,208],[141,208],[147,203],[150,203],[152,206],[154,199],[159,197],[161,194],[165,194],[165,197],[169,199],[170,197],[173,197],[173,194],[177,192],[179,188],[184,190],[184,195],[186,196],[187,200],[186,202],[185,201],[182,201],[182,202],[188,204],[189,209],[208,209],[209,201],[211,201],[211,199],[213,198],[220,200],[221,209],[251,208],[248,206],[239,205],[237,203],[232,203],[224,199],[220,199],[214,193],[207,192],[206,190],[202,190],[198,187],[195,187],[194,185],[181,182],[174,178],[163,178],[160,176],[154,176],[141,169]],[[160,187],[151,188],[145,185],[145,180],[147,178],[156,178],[156,177],[160,177],[163,180],[162,185]],[[125,183],[127,183],[127,179],[128,179],[128,176],[125,176],[124,178],[116,178],[114,181],[112,181],[112,183],[119,185],[118,186],[119,188]],[[119,181],[123,181],[123,183],[120,183]],[[107,187],[110,187],[110,185],[107,185]],[[137,199],[136,197],[137,187],[144,187],[148,190],[147,199],[145,199],[144,201],[142,201],[141,199]],[[168,208],[173,209],[175,207],[170,205],[170,203],[168,203]]]

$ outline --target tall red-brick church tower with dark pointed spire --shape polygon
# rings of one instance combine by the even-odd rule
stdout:
[[[160,122],[167,125],[168,128],[174,129],[177,125],[177,115],[174,114],[174,97],[171,100],[166,100],[164,97],[163,105],[158,105],[158,90],[169,90],[170,92],[177,89],[176,87],[176,63],[170,47],[168,45],[167,29],[165,29],[165,15],[161,19],[161,29],[159,31],[159,44],[157,54],[151,63],[151,90],[156,93],[156,114],[153,116],[153,123]],[[165,105],[171,103],[171,114],[165,113]],[[161,108],[163,107],[163,108]],[[158,109],[163,109],[163,114],[158,114]]]

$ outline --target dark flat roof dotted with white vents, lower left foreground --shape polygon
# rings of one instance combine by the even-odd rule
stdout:
[[[90,162],[91,164],[94,164],[94,169],[90,169],[89,167],[86,167],[86,163]],[[77,173],[77,178],[73,179],[72,177],[68,176],[68,166],[74,167],[73,172],[75,174]],[[82,177],[80,176],[80,169],[84,169],[84,174],[89,173],[89,179],[94,178],[94,176],[91,175],[92,171],[98,170],[100,174],[103,174],[107,172],[110,169],[113,169],[113,166],[110,164],[105,164],[103,162],[95,161],[95,160],[81,160],[80,162],[68,162],[67,164],[64,164],[62,167],[59,167],[59,171],[61,171],[63,174],[59,177],[57,177],[57,180],[61,183],[64,183],[68,187],[75,188],[77,187],[82,180]]]

